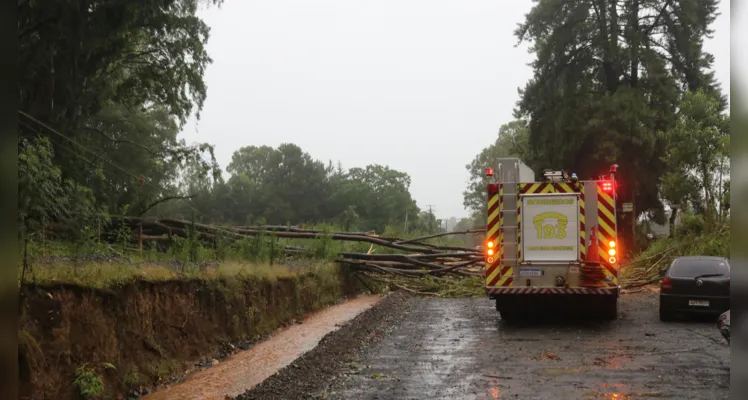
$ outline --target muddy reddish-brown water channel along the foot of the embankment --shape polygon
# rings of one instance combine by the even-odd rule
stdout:
[[[353,319],[379,300],[380,296],[363,296],[314,313],[300,325],[283,328],[267,341],[143,399],[223,400],[226,395],[238,396],[312,350],[325,335],[337,329],[336,325]]]

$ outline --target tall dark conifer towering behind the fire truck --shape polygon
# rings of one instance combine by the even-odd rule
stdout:
[[[530,120],[531,166],[581,178],[620,165],[619,196],[662,208],[663,138],[684,88],[719,92],[702,49],[717,0],[539,0],[519,25],[534,76],[516,113]],[[628,223],[633,223],[632,218]]]

